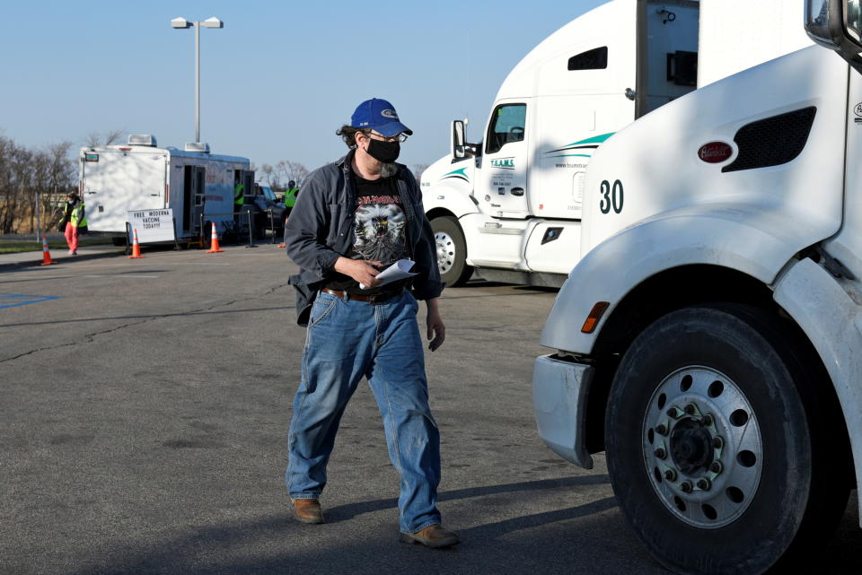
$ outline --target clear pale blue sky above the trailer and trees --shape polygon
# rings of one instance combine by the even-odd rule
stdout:
[[[499,84],[541,39],[603,0],[497,2],[4,3],[0,133],[40,147],[122,129],[161,146],[194,140],[194,30],[201,30],[201,140],[258,165],[310,170],[342,155],[334,135],[383,97],[415,132],[400,161],[448,151],[449,123],[481,126]],[[124,135],[125,137],[125,135]]]

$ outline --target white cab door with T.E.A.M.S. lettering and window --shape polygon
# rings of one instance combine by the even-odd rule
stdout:
[[[527,100],[498,102],[488,120],[477,199],[486,203],[484,209],[494,217],[523,219],[530,215]]]

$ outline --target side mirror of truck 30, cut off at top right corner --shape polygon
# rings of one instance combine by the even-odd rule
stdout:
[[[860,0],[805,0],[805,31],[815,42],[835,50],[862,72]]]

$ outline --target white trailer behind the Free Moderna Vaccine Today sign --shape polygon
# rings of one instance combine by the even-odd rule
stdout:
[[[234,181],[254,187],[248,158],[211,154],[207,144],[159,148],[153,135],[129,135],[128,145],[81,148],[80,161],[88,227],[114,235],[117,243],[127,234],[128,212],[136,210],[171,208],[178,239],[198,237],[202,220],[224,229],[233,222]]]

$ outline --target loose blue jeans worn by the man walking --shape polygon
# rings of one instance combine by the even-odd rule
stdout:
[[[285,480],[293,499],[317,499],[347,401],[363,377],[374,392],[400,474],[400,530],[440,523],[440,434],[428,406],[425,354],[409,292],[372,305],[319,293],[312,306],[288,433]]]

